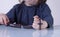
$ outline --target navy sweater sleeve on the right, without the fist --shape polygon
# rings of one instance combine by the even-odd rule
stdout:
[[[51,10],[47,4],[45,4],[43,12],[42,12],[43,20],[48,23],[48,28],[53,27],[53,17],[51,14]]]

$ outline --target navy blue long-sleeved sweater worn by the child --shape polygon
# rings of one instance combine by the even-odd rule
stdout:
[[[48,27],[53,26],[51,10],[46,3],[36,6],[26,6],[25,4],[16,4],[7,14],[10,23],[16,22],[22,25],[32,25],[33,17],[38,15],[42,20],[48,23]]]

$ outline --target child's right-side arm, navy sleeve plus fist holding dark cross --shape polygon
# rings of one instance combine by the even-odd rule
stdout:
[[[52,28],[53,27],[53,17],[51,15],[51,10],[47,4],[44,4],[42,7],[43,7],[43,11],[41,12],[41,15],[39,13],[37,14],[42,17],[41,23],[43,23],[43,24],[41,27],[42,28],[46,28],[46,27]],[[35,20],[38,20],[38,21],[33,22],[33,25],[32,25],[33,28],[39,29],[39,25],[38,25],[39,19],[41,20],[40,17],[37,19],[36,18],[34,19],[34,21]]]

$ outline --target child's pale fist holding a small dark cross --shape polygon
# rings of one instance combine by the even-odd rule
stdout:
[[[41,25],[41,27],[40,27],[40,25],[39,25],[39,23],[40,23],[40,21],[41,21],[41,23],[42,23],[42,25]],[[44,21],[44,20],[41,20],[40,18],[39,18],[39,16],[34,16],[34,21],[33,21],[33,25],[32,25],[32,27],[34,28],[34,29],[37,29],[37,30],[39,30],[40,28],[41,29],[45,29],[46,27],[47,27],[47,22],[46,21]]]

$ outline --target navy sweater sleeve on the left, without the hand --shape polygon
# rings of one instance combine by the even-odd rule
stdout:
[[[10,20],[10,23],[16,22],[16,8],[19,6],[19,4],[16,4],[13,6],[13,8],[6,14],[7,17]]]

